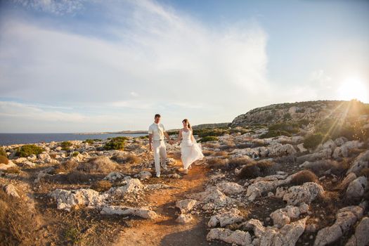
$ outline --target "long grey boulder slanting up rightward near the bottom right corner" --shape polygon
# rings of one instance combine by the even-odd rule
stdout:
[[[336,214],[335,224],[318,231],[314,246],[328,245],[342,237],[356,221],[363,217],[364,209],[359,206],[349,206],[339,209]]]

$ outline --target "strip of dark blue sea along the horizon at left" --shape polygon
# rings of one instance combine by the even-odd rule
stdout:
[[[147,134],[0,134],[0,145],[21,143],[48,143],[51,141],[73,141],[86,139],[114,138],[117,136],[139,137]]]

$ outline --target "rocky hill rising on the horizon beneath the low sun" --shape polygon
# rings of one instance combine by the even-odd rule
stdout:
[[[319,122],[323,119],[344,119],[347,113],[369,114],[369,105],[358,101],[307,101],[280,103],[254,108],[233,119],[232,127],[250,124],[275,124],[288,121]]]

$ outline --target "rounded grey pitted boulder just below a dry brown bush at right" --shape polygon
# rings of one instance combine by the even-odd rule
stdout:
[[[314,182],[306,182],[302,186],[292,186],[288,188],[283,200],[287,205],[300,205],[303,202],[310,204],[318,195],[324,193],[323,187]]]

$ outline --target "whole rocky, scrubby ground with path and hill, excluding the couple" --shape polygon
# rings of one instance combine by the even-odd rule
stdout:
[[[195,131],[187,175],[167,145],[160,178],[143,137],[3,146],[0,242],[369,245],[368,132],[357,101],[271,105]]]

